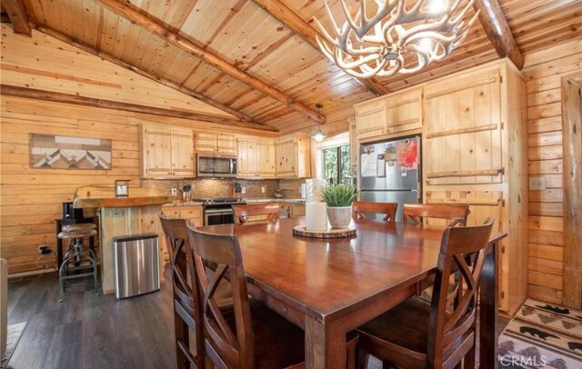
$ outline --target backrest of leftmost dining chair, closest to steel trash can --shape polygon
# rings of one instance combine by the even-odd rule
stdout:
[[[194,252],[190,246],[188,235],[189,225],[196,228],[192,221],[186,219],[166,218],[160,215],[162,230],[166,235],[166,244],[170,254],[172,269],[172,284],[174,286],[175,319],[179,318],[192,329],[196,336],[196,353],[204,353],[203,329],[201,322],[202,309],[198,294],[198,277],[194,264]],[[188,329],[181,322],[176,324],[176,345],[181,353],[196,367],[204,367],[204,354],[192,354],[188,347]],[[179,354],[178,354],[179,356]],[[178,359],[178,368],[185,367]]]

